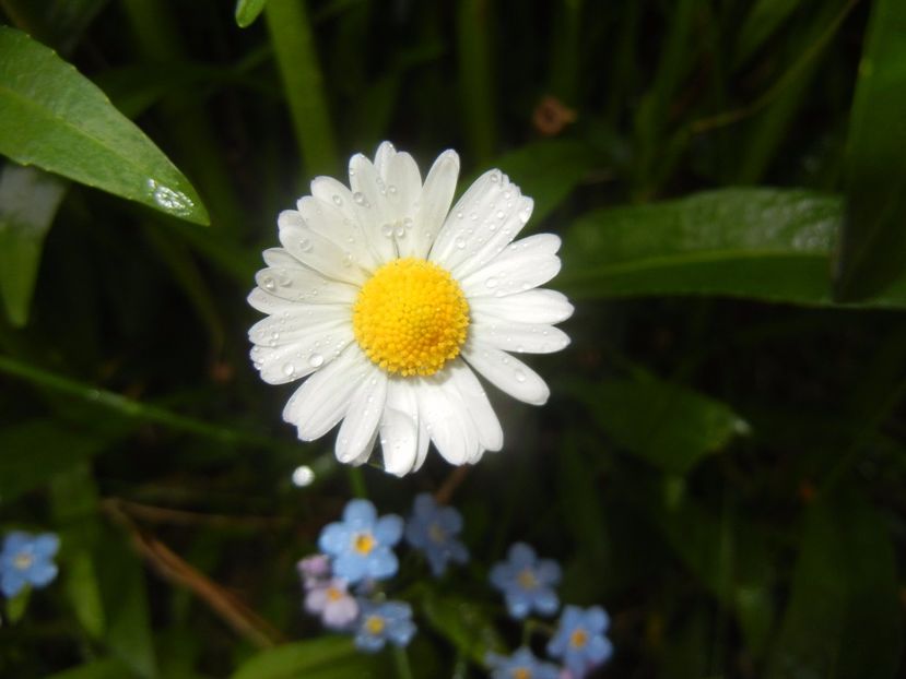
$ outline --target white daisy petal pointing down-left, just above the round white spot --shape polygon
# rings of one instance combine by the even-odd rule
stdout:
[[[283,408],[284,421],[295,425],[298,438],[314,441],[346,415],[350,400],[372,369],[357,346],[348,346],[303,382]]]

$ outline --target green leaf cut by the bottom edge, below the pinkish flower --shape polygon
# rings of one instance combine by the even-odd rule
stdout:
[[[233,679],[380,679],[386,657],[362,653],[349,636],[328,635],[261,651],[233,674]]]

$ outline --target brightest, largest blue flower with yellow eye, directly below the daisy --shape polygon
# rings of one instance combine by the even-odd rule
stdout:
[[[396,514],[378,519],[367,500],[350,500],[343,521],[325,526],[318,546],[333,557],[333,574],[352,585],[396,574],[399,562],[391,547],[401,536],[402,519]]]

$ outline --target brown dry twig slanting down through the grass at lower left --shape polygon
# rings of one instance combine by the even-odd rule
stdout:
[[[259,648],[267,648],[283,641],[279,631],[234,594],[224,589],[162,541],[137,526],[125,511],[121,500],[104,500],[103,508],[116,523],[129,533],[136,551],[148,561],[149,565],[161,577],[190,589],[208,604],[237,634]]]

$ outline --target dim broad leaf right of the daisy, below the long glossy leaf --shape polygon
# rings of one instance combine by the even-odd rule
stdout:
[[[679,384],[608,380],[575,382],[568,389],[617,445],[675,474],[685,474],[749,431],[729,406]]]

